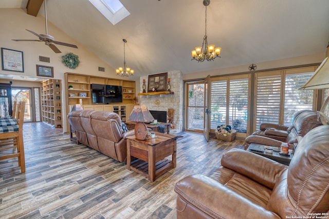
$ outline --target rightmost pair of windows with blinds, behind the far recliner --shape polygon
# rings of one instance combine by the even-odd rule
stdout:
[[[314,90],[299,90],[315,67],[255,74],[254,130],[262,123],[291,125],[296,112],[314,108]]]

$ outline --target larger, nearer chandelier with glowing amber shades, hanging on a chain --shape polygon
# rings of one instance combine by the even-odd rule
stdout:
[[[204,6],[206,6],[206,26],[205,26],[205,36],[202,47],[195,47],[195,50],[192,50],[192,59],[198,62],[213,61],[216,57],[221,57],[221,47],[216,47],[215,45],[209,45],[207,42],[207,6],[210,5],[210,0],[203,1]]]

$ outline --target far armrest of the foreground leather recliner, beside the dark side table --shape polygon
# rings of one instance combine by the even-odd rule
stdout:
[[[229,150],[223,155],[221,165],[270,189],[273,189],[277,183],[278,176],[288,168],[286,165],[272,161],[267,157],[241,149]]]

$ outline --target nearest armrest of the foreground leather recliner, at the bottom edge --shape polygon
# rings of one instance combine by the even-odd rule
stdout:
[[[190,212],[186,204],[211,218],[280,218],[204,175],[187,176],[176,183],[174,190],[181,198],[181,202],[177,198],[177,218],[195,212]]]

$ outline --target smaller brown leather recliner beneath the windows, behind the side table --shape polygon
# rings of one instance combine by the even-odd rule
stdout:
[[[317,111],[302,110],[295,114],[294,122],[291,126],[279,124],[263,123],[259,131],[255,131],[246,137],[245,149],[250,144],[261,144],[273,147],[280,147],[282,142],[289,143],[293,149],[294,143],[298,143],[301,138],[315,127],[321,126],[321,120]]]

